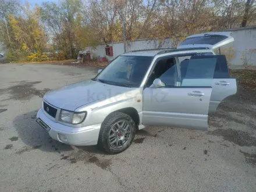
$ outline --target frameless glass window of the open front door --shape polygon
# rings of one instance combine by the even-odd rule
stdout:
[[[209,87],[212,85],[215,65],[216,58],[186,58],[180,62],[180,70],[176,66],[170,67],[159,79],[167,87]]]

